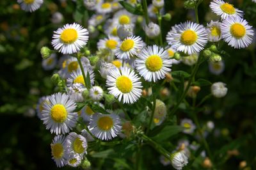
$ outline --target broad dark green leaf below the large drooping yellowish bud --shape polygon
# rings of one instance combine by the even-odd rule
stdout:
[[[152,139],[155,141],[164,141],[175,134],[179,134],[182,130],[184,128],[177,125],[166,126],[157,135],[152,137]]]

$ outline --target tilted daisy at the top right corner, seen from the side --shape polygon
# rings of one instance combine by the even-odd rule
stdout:
[[[225,3],[222,0],[213,0],[210,4],[212,12],[221,16],[221,19],[226,19],[227,17],[243,17],[243,12],[234,8],[232,4]]]

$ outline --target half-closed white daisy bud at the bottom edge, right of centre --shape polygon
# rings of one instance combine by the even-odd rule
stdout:
[[[181,170],[186,164],[188,164],[188,157],[182,152],[177,151],[171,155],[171,163],[175,169]]]

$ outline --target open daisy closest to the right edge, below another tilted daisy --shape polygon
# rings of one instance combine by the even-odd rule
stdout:
[[[240,17],[228,17],[221,24],[222,38],[235,49],[246,48],[253,41],[253,29]]]

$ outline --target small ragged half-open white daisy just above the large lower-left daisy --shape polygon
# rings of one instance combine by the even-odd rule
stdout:
[[[68,87],[68,95],[70,99],[74,100],[75,102],[83,102],[83,91],[86,90],[83,84],[74,83]]]

